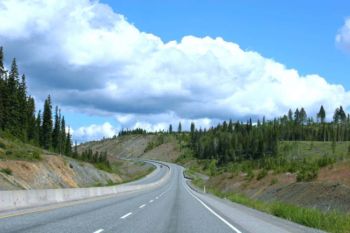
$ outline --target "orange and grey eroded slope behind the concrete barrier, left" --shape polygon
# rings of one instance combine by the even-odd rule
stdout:
[[[78,188],[122,181],[117,174],[97,170],[90,163],[65,156],[42,157],[43,161],[0,161],[0,169],[12,170],[12,175],[0,172],[0,190]]]

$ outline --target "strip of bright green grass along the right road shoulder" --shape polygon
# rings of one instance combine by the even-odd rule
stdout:
[[[192,181],[196,186],[204,188],[200,179]],[[232,202],[251,207],[274,216],[293,221],[307,227],[312,227],[327,232],[349,233],[350,232],[350,213],[346,216],[337,210],[323,213],[320,209],[311,207],[302,207],[299,205],[287,204],[278,201],[262,202],[252,200],[244,194],[234,192],[221,192],[217,188],[206,188],[206,192],[214,194],[220,198],[227,198]]]

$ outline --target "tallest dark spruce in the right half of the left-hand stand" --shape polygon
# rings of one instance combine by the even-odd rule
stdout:
[[[52,103],[49,95],[45,100],[42,122],[42,146],[48,150],[52,147]]]

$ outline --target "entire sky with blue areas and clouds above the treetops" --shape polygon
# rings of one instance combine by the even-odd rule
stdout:
[[[256,122],[350,110],[349,1],[0,1],[37,110],[48,94],[73,140],[121,128]]]

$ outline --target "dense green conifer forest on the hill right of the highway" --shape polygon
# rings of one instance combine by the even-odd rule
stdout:
[[[179,135],[181,129],[180,122]],[[331,121],[326,122],[326,113],[321,105],[316,121],[307,117],[304,108],[297,108],[294,113],[289,109],[283,117],[266,120],[264,116],[254,125],[251,118],[246,123],[230,119],[229,123],[224,121],[216,127],[198,130],[192,122],[190,131],[182,133],[182,138],[188,141],[196,158],[216,159],[219,164],[225,165],[276,156],[282,153],[280,141],[333,141],[334,145],[336,141],[349,141],[350,115],[346,116],[340,106],[335,109]]]

